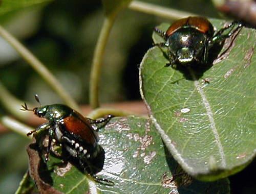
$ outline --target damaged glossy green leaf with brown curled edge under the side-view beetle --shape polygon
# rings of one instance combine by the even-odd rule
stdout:
[[[69,194],[229,193],[227,179],[202,182],[185,174],[166,152],[161,137],[148,119],[133,116],[113,118],[100,130],[99,136],[105,161],[97,176],[113,181],[113,186],[96,183],[70,163],[63,164],[53,156],[47,163],[38,156],[33,158],[38,153],[33,151],[35,144],[30,144],[30,164],[38,160],[30,166],[37,185],[41,185],[46,193],[46,189],[51,189],[51,193]]]

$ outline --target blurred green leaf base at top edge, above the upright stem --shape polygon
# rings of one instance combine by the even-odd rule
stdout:
[[[132,0],[102,0],[105,14],[116,15],[122,9],[126,8]]]

